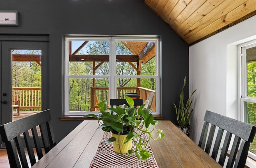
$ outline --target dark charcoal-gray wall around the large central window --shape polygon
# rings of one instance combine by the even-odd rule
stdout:
[[[0,26],[0,34],[48,34],[49,108],[57,141],[81,121],[60,121],[64,113],[64,35],[158,35],[162,38],[162,106],[164,119],[176,122],[188,45],[142,0],[0,0],[0,10],[18,10],[19,26]],[[188,95],[188,85],[185,88]]]

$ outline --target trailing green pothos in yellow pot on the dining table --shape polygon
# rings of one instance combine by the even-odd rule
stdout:
[[[144,109],[145,104],[140,107],[133,107],[134,101],[132,98],[126,96],[126,104],[116,106],[115,108],[107,108],[106,101],[98,103],[100,113],[98,116],[89,114],[84,117],[94,117],[98,119],[99,127],[105,132],[112,132],[112,137],[107,139],[104,143],[113,142],[115,152],[123,156],[124,153],[135,153],[138,160],[146,160],[151,156],[150,152],[146,150],[149,145],[149,140],[162,139],[164,133],[158,129],[158,137],[152,137],[151,133],[156,129],[156,125],[160,121],[154,120],[152,109]],[[113,114],[109,110],[114,111]],[[147,134],[148,139],[142,137],[142,134]],[[136,148],[131,149],[132,142]],[[125,145],[123,147],[123,145]]]

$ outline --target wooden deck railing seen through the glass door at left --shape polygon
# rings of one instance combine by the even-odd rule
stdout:
[[[41,109],[41,87],[13,87],[12,94],[18,95],[20,109]]]

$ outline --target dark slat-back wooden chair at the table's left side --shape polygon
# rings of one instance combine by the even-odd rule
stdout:
[[[40,144],[40,135],[38,135],[36,126],[39,126],[40,128],[43,144]],[[32,135],[29,134],[30,130]],[[42,146],[44,146],[44,151],[47,153],[56,145],[49,109],[17,121],[1,125],[0,134],[2,141],[6,144],[11,168],[28,168],[24,146],[26,146],[28,151],[30,164],[33,166],[36,163],[33,146],[36,148],[36,154],[39,160],[43,157]],[[23,134],[25,143],[22,142],[23,137],[21,134]],[[33,136],[33,140],[31,136]]]

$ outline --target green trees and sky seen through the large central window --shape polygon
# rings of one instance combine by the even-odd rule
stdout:
[[[77,54],[88,55],[109,55],[108,41],[95,41],[86,44],[86,53],[84,51]],[[116,42],[117,55],[133,55],[122,42]],[[101,62],[96,62],[95,67]],[[136,62],[132,62],[137,67]],[[89,62],[69,62],[70,75],[92,75],[92,61]],[[104,62],[95,71],[95,75],[109,75],[109,62]],[[156,74],[156,58],[152,58],[145,64],[142,64],[141,75]],[[128,62],[116,61],[116,75],[137,75],[136,70]],[[142,78],[141,87],[155,90],[156,80],[154,78]],[[95,79],[96,87],[108,87],[108,78]],[[90,87],[92,87],[92,78],[70,78],[69,80],[69,107],[70,111],[90,111]],[[118,78],[116,81],[117,87],[136,87],[137,79],[135,78]],[[98,93],[96,93],[98,94]],[[104,95],[105,94],[105,95]],[[103,93],[102,97],[107,93]],[[122,93],[117,93],[121,99],[124,97]],[[122,96],[122,97],[121,97]],[[108,97],[106,97],[108,98]],[[105,99],[104,99],[105,100]]]

